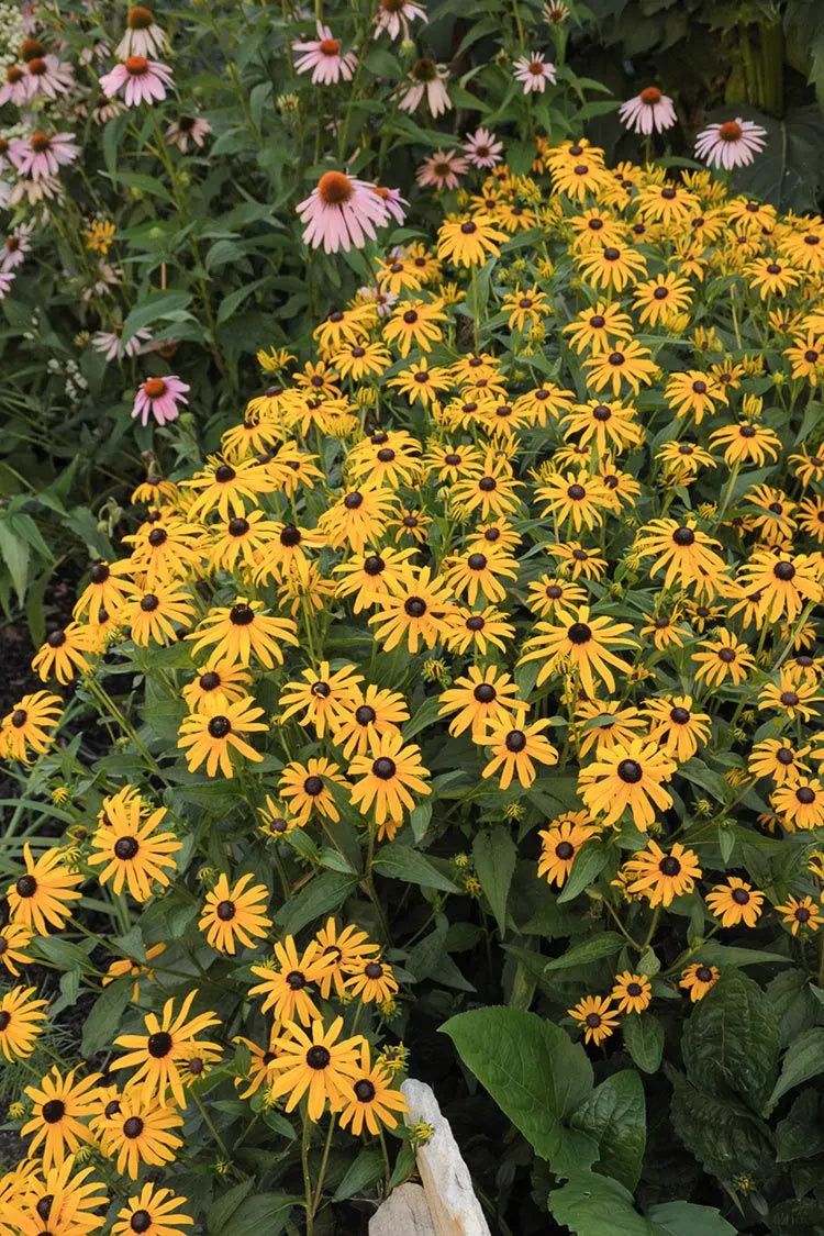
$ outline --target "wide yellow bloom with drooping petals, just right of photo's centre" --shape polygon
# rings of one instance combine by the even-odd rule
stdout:
[[[572,616],[570,616],[572,617]],[[604,682],[608,691],[615,690],[615,677],[610,666],[620,674],[629,672],[626,661],[612,651],[613,648],[633,648],[634,639],[626,633],[629,623],[616,623],[612,618],[593,617],[588,606],[581,606],[574,622],[539,622],[534,634],[525,641],[519,665],[540,661],[537,686],[557,674],[561,665],[571,665],[581,677],[581,686],[588,696],[598,695],[597,682]]]

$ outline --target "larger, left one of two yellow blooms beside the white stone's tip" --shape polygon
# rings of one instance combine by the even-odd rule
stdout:
[[[341,1039],[343,1018],[336,1017],[329,1027],[320,1018],[306,1033],[294,1021],[287,1022],[275,1039],[279,1052],[273,1060],[278,1077],[269,1086],[269,1095],[288,1095],[287,1111],[293,1111],[308,1095],[306,1111],[317,1121],[326,1104],[340,1111],[348,1100],[347,1086],[359,1072],[359,1048],[363,1036]]]

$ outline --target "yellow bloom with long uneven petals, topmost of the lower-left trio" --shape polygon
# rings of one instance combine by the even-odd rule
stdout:
[[[219,1026],[220,1017],[214,1012],[200,1012],[189,1020],[196,996],[196,989],[190,990],[177,1014],[174,1000],[167,1000],[161,1017],[154,1012],[143,1017],[145,1035],[120,1035],[115,1039],[115,1047],[125,1047],[127,1054],[114,1060],[110,1070],[136,1068],[130,1086],[138,1089],[145,1099],[157,1096],[158,1103],[164,1103],[170,1091],[178,1106],[185,1107],[178,1065],[193,1051],[220,1051],[217,1043],[198,1037],[204,1030]]]

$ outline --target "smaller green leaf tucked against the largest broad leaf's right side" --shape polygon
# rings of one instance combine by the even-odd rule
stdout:
[[[646,1148],[646,1101],[637,1073],[624,1069],[602,1082],[573,1114],[572,1125],[598,1142],[595,1170],[634,1189]]]

